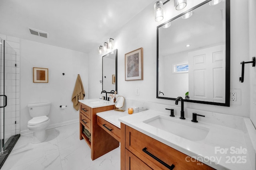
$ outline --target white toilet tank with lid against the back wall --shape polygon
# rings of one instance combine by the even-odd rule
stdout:
[[[51,102],[28,104],[28,111],[31,117],[47,116],[50,113]]]

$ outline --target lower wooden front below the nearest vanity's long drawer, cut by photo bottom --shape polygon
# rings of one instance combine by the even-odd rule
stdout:
[[[125,169],[126,170],[152,170],[147,164],[142,162],[129,150],[125,150]]]

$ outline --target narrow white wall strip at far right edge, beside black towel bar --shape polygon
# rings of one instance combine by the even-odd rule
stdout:
[[[248,61],[256,57],[256,1],[249,0],[249,50]],[[250,118],[256,127],[256,67],[248,66],[250,69]]]

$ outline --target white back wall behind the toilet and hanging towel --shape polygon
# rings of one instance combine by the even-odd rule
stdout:
[[[88,98],[88,56],[52,45],[21,39],[20,52],[20,130],[29,133],[31,119],[28,104],[52,102],[51,127],[78,122],[79,111],[71,101],[77,75],[80,74]],[[33,67],[48,68],[48,83],[33,83]],[[63,76],[62,73],[65,73]],[[60,109],[66,105],[66,109]]]

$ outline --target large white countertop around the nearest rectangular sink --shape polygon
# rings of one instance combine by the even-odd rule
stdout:
[[[204,139],[191,141],[143,122],[147,119],[154,119],[154,117],[159,115],[181,124],[191,125],[192,127],[202,126],[209,129],[209,132]],[[244,119],[248,121],[248,118]],[[252,158],[251,156],[255,156],[255,149],[252,147],[254,144],[248,144],[248,137],[246,137],[246,135],[248,136],[246,134],[248,131],[246,130],[247,125],[245,123],[243,123],[245,130],[239,130],[202,121],[194,123],[191,119],[181,120],[179,117],[170,117],[169,114],[154,110],[123,116],[118,120],[218,170],[252,170],[251,162],[255,164],[255,157]],[[186,129],[183,130],[186,131]],[[255,133],[255,128],[253,131]],[[255,134],[253,136],[255,139]]]

